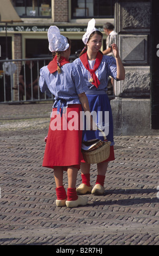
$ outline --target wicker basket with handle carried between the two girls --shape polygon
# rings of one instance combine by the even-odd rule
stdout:
[[[105,133],[99,128],[97,129],[103,133],[103,137],[106,139]],[[82,150],[84,161],[87,163],[100,163],[105,161],[110,155],[110,144],[111,142],[107,141],[100,148],[97,148],[93,151]]]

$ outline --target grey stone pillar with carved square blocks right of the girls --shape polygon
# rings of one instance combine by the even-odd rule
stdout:
[[[125,80],[115,83],[117,97],[111,101],[115,135],[159,133],[159,112],[155,115],[155,125],[152,124],[151,92],[156,85],[151,80],[155,36],[151,31],[151,17],[152,1],[121,0],[115,4],[117,45],[126,70]]]

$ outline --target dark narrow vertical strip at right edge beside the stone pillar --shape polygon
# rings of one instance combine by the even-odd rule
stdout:
[[[159,129],[159,5],[151,0],[151,128]]]

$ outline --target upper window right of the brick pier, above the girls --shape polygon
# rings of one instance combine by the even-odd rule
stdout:
[[[115,0],[71,0],[71,19],[113,18]]]

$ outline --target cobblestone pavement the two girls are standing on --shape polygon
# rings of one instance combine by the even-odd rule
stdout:
[[[0,245],[159,245],[159,135],[115,137],[104,195],[58,208],[53,170],[41,166],[51,106],[0,105]]]

